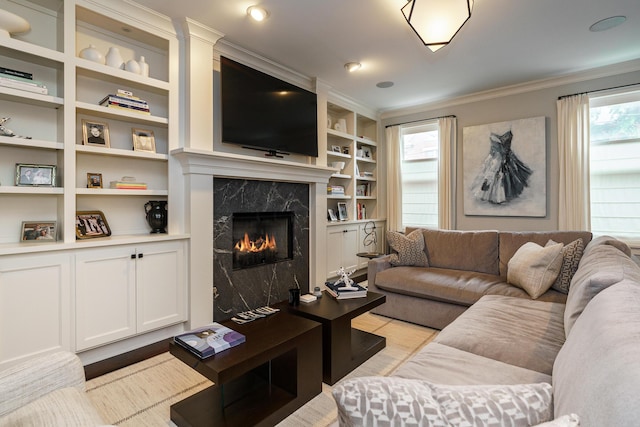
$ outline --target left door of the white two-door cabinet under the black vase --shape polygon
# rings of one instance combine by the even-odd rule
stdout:
[[[136,332],[136,259],[132,247],[76,255],[76,349]]]

